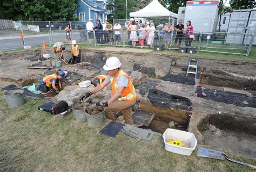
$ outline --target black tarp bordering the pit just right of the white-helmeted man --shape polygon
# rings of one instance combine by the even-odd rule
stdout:
[[[150,99],[150,102],[155,106],[161,107],[176,107],[181,110],[192,111],[192,103],[190,99],[178,95],[170,95],[167,92],[160,91],[157,89],[149,89],[149,95],[147,98]]]

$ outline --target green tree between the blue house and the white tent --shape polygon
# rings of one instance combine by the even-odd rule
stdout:
[[[126,5],[125,0],[114,0],[116,10],[114,10],[114,19],[126,19]],[[129,17],[130,12],[136,11],[137,6],[136,0],[127,0],[127,16]]]

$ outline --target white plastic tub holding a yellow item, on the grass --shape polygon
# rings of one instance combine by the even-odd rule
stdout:
[[[163,138],[164,138],[165,150],[176,153],[176,154],[190,156],[193,150],[197,146],[197,139],[196,137],[194,137],[194,134],[186,131],[167,128],[163,134]],[[168,144],[166,142],[166,139],[171,139],[171,140],[179,139],[184,144],[190,145],[190,148]]]

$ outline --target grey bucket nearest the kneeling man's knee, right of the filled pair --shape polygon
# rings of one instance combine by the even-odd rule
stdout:
[[[86,114],[87,122],[90,127],[98,127],[104,123],[105,109],[96,115],[90,115],[86,113],[85,110],[84,113]]]

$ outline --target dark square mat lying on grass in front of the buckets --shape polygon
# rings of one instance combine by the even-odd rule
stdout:
[[[110,137],[114,138],[120,132],[120,130],[125,126],[122,123],[117,123],[116,121],[111,121],[107,124],[99,133],[109,135]]]

